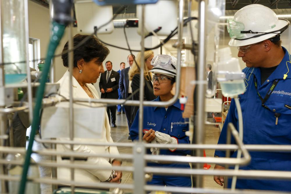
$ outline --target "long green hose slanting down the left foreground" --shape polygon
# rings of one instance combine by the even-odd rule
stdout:
[[[49,47],[47,49],[47,57],[46,57],[46,63],[45,67],[42,71],[42,76],[40,79],[40,86],[38,87],[37,94],[36,94],[36,105],[34,107],[33,111],[33,120],[31,124],[31,133],[29,137],[29,144],[25,156],[25,161],[23,165],[23,171],[22,171],[22,177],[21,182],[19,186],[19,194],[25,193],[25,186],[27,181],[27,172],[30,165],[30,157],[32,153],[32,145],[34,141],[34,136],[36,134],[36,130],[38,129],[39,123],[40,123],[40,109],[42,107],[42,97],[45,92],[45,83],[47,81],[47,75],[49,74],[49,70],[51,67],[52,58],[54,56],[54,53],[56,51],[56,47],[58,46],[61,38],[63,37],[64,31],[65,31],[65,25],[59,24],[57,22],[52,23],[52,36],[50,38]]]

